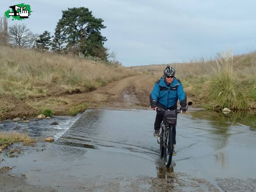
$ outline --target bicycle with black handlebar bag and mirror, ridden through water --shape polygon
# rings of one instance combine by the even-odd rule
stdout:
[[[188,102],[188,106],[192,105],[192,102]],[[187,108],[188,108],[187,106]],[[158,111],[165,111],[164,118],[159,130],[159,136],[157,137],[157,143],[160,144],[159,155],[164,157],[164,165],[169,167],[172,162],[172,126],[177,124],[177,115],[180,113],[180,109],[177,110],[164,110],[157,108]]]

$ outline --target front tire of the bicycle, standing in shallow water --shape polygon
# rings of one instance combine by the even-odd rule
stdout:
[[[170,167],[172,162],[172,128],[168,128],[164,133],[165,137],[165,147],[164,147],[164,165]]]

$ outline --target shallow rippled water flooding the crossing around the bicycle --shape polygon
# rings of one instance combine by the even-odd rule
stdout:
[[[0,154],[0,166],[13,166],[11,174],[25,175],[31,185],[64,192],[256,191],[252,126],[206,111],[180,114],[177,156],[166,168],[153,137],[154,120],[155,111],[89,109],[63,117],[69,129],[40,121],[39,133],[40,126],[22,129],[38,137],[52,134],[55,141],[20,146],[24,150],[14,158]]]

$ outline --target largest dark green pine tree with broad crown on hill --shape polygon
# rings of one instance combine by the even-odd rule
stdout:
[[[100,33],[101,29],[106,28],[102,24],[103,21],[101,18],[95,18],[85,7],[68,8],[67,11],[62,11],[58,26],[65,28],[68,50],[104,60],[106,49],[103,45],[107,38]]]

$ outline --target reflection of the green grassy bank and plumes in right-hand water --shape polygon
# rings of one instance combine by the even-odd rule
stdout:
[[[207,136],[209,139],[209,144],[213,145],[217,154],[215,156],[215,161],[220,163],[222,169],[228,167],[228,153],[229,151],[224,150],[230,144],[230,137],[237,138],[240,140],[241,134],[248,134],[245,129],[236,129],[238,124],[244,124],[250,126],[251,130],[256,129],[256,111],[253,110],[239,110],[231,111],[228,114],[218,113],[215,111],[198,111],[190,113],[193,120],[200,122],[201,119],[206,120],[206,122],[201,122],[201,129],[206,130],[211,133]],[[208,127],[207,124],[209,124]],[[250,132],[250,131],[249,131]],[[243,141],[242,141],[243,142]]]

